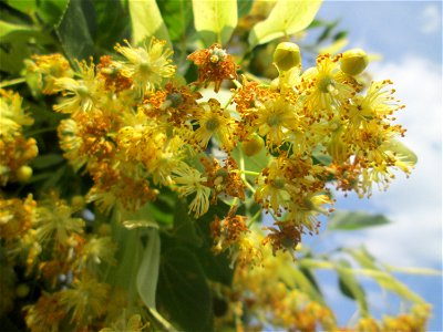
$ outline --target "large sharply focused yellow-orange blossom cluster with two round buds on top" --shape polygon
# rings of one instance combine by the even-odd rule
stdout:
[[[61,147],[75,169],[91,175],[87,200],[105,211],[136,210],[162,187],[188,197],[196,218],[217,199],[234,199],[234,206],[254,197],[275,218],[264,243],[286,250],[331,211],[330,183],[370,196],[374,184],[389,184],[393,169],[410,172],[395,141],[404,129],[392,124],[404,106],[389,80],[359,83],[368,64],[363,51],[321,54],[302,72],[298,46],[282,43],[274,59],[279,76],[266,85],[238,82],[234,58],[214,44],[188,56],[198,81],[181,85],[164,42],[115,50],[120,56],[102,56],[97,65],[79,63],[78,79],[61,55],[34,56],[32,68],[50,77],[44,93],[62,93],[54,111],[70,117],[59,126]],[[63,70],[48,76],[49,60]],[[202,100],[200,84],[214,82],[218,92],[226,80],[236,85],[229,101]],[[215,158],[215,148],[225,156]],[[246,169],[245,157],[257,154],[267,163]],[[223,232],[233,230],[224,226],[233,220],[244,225],[243,217],[226,218],[217,224]],[[245,238],[214,234],[217,248]]]

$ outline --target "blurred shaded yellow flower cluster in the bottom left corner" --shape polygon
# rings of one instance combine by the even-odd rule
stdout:
[[[112,266],[115,245],[110,235],[85,232],[85,220],[76,209],[83,209],[74,197],[69,204],[55,194],[35,201],[0,198],[0,234],[2,239],[1,312],[9,312],[19,297],[25,299],[28,283],[16,284],[10,267],[25,267],[25,276],[34,276],[51,292],[43,292],[34,304],[27,305],[25,322],[31,331],[60,331],[73,323],[78,330],[94,325],[107,314],[119,315],[121,308],[110,305],[112,287],[99,281],[103,267]],[[4,278],[3,278],[4,277]],[[101,325],[97,325],[101,326]]]

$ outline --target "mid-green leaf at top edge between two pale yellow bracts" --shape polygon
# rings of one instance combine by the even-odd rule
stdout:
[[[193,20],[193,7],[188,0],[159,1],[158,8],[172,41],[187,38],[186,31]]]

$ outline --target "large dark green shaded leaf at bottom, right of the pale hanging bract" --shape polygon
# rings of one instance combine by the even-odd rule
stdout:
[[[185,331],[212,331],[212,295],[196,257],[185,247],[162,255],[157,303]]]

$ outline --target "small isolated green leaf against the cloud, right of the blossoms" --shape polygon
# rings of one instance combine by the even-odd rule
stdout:
[[[370,215],[359,211],[337,211],[328,221],[329,230],[356,230],[388,225],[391,221],[383,215]]]

